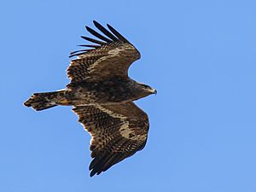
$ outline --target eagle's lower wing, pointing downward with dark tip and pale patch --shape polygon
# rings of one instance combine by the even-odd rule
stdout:
[[[90,133],[90,177],[144,148],[148,115],[133,102],[104,106],[76,106],[79,122]]]

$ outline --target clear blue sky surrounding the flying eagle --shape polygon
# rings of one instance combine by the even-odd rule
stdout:
[[[256,2],[3,1],[0,191],[255,192]],[[143,151],[89,177],[90,137],[71,107],[36,113],[32,92],[68,83],[85,25],[137,46],[130,76],[157,96]]]

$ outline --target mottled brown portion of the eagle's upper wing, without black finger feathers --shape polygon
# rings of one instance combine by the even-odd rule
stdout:
[[[71,61],[67,75],[71,82],[96,81],[114,76],[128,78],[128,68],[140,58],[131,44],[112,43],[92,49]]]

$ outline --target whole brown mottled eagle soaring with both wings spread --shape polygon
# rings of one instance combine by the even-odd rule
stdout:
[[[74,51],[70,57],[66,89],[34,93],[24,105],[37,111],[55,106],[73,106],[79,122],[90,133],[92,161],[90,177],[142,150],[148,138],[148,115],[134,103],[156,90],[128,76],[131,63],[140,59],[139,51],[107,24],[96,20],[96,32],[85,26],[95,38],[81,36],[93,44]]]

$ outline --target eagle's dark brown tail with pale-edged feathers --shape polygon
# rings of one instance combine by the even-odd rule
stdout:
[[[57,105],[67,105],[65,98],[65,90],[58,90],[54,92],[34,93],[24,105],[26,107],[32,107],[37,111],[41,111],[47,108],[53,108]]]

